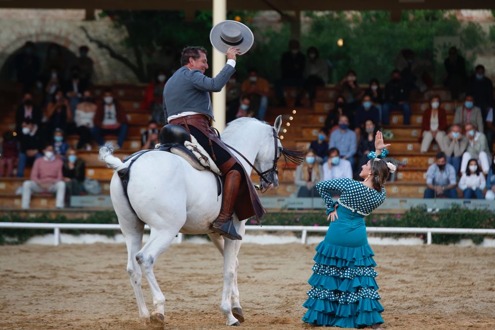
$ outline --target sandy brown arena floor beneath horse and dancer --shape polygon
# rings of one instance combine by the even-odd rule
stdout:
[[[494,330],[495,249],[374,246],[387,330]],[[300,319],[314,246],[241,248],[246,330],[309,329]],[[149,329],[138,318],[124,245],[0,246],[0,329]],[[163,329],[227,329],[222,261],[213,245],[173,245],[155,274]],[[146,283],[143,280],[143,283]],[[144,284],[152,310],[148,284]]]

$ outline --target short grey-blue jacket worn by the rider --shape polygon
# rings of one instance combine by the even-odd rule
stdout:
[[[222,71],[209,78],[198,69],[183,66],[170,77],[163,89],[163,111],[165,119],[181,112],[204,113],[213,120],[213,109],[209,92],[220,92],[236,69],[225,64]]]

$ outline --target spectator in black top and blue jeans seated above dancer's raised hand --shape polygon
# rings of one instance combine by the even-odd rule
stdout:
[[[400,71],[392,72],[392,80],[385,85],[385,103],[382,110],[383,125],[390,124],[390,112],[394,110],[402,111],[404,115],[404,125],[409,125],[411,118],[411,106],[407,101],[409,90],[402,80]]]

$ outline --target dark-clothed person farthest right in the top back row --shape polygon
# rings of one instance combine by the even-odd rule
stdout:
[[[444,61],[446,78],[444,86],[450,91],[450,97],[458,100],[466,88],[466,60],[458,54],[457,47],[448,49],[448,57]]]

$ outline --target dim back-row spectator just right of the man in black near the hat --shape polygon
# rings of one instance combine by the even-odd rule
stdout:
[[[304,70],[304,89],[309,94],[310,107],[314,105],[316,87],[325,86],[328,80],[327,62],[320,57],[320,52],[314,46],[306,50],[306,67]]]

